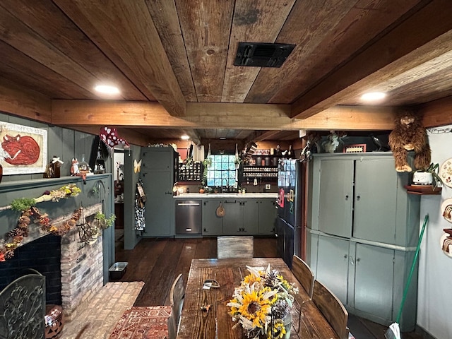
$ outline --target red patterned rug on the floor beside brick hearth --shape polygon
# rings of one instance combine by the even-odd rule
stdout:
[[[109,339],[163,339],[168,336],[170,306],[128,307]]]

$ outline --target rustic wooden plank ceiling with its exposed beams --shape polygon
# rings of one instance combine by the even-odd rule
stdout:
[[[295,49],[280,68],[234,66],[239,42]],[[397,107],[452,95],[451,57],[448,0],[0,2],[0,110],[142,144],[389,130]]]

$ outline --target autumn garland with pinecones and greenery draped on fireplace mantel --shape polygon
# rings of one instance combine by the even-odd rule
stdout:
[[[16,199],[11,205],[1,207],[0,210],[9,210],[17,206],[22,206],[23,210],[18,218],[16,228],[10,230],[5,234],[5,240],[0,242],[0,261],[12,258],[14,250],[17,249],[24,237],[28,237],[28,225],[31,222],[41,226],[41,229],[56,235],[63,235],[75,227],[77,221],[81,217],[82,208],[74,211],[69,220],[59,225],[52,225],[51,220],[47,214],[40,213],[40,210],[34,207],[35,203],[43,201],[59,201],[61,198],[69,198],[71,196],[78,196],[81,189],[76,184],[69,184],[53,191],[45,191],[42,196],[34,199]],[[16,209],[15,208],[15,209]]]

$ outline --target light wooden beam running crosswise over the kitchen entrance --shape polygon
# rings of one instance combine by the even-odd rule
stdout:
[[[148,126],[179,129],[345,130],[393,128],[391,107],[331,107],[309,119],[290,119],[288,105],[189,103],[186,117],[172,117],[155,102],[53,100],[52,124]]]

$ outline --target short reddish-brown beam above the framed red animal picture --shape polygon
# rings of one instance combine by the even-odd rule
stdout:
[[[52,100],[0,78],[0,111],[50,123]]]

